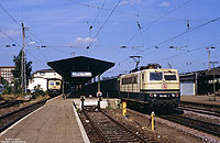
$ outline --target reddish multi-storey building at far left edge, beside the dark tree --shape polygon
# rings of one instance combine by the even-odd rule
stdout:
[[[3,77],[8,82],[13,81],[13,74],[12,70],[14,70],[14,66],[0,66],[0,77]],[[0,78],[0,85],[2,84]]]

